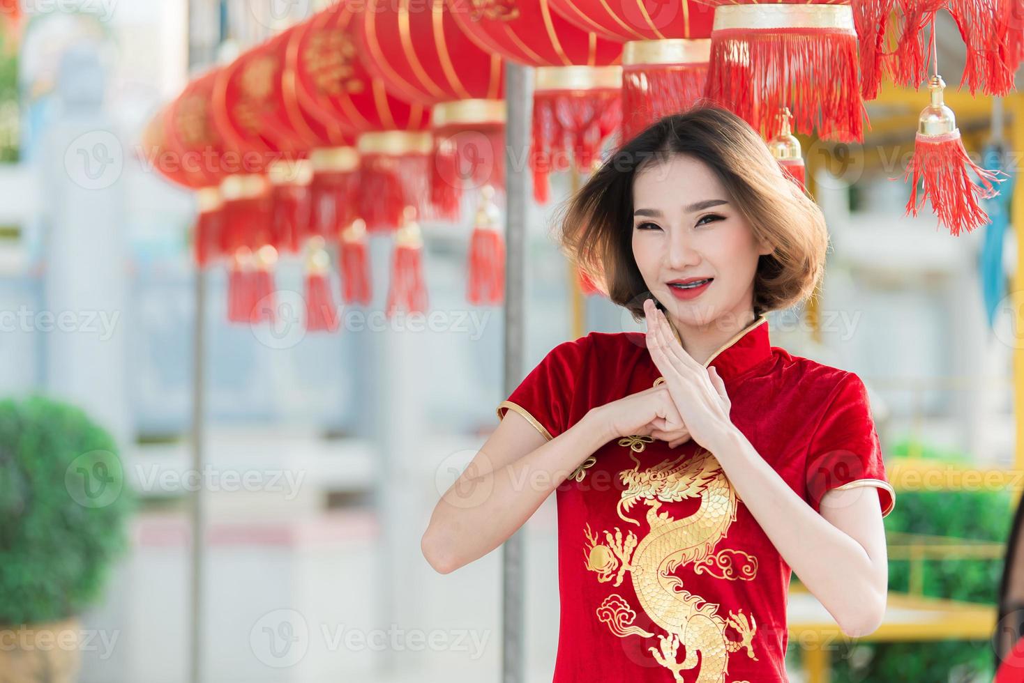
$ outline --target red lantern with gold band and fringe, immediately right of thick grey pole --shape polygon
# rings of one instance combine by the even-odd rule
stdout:
[[[554,13],[548,0],[481,5],[447,0],[466,35],[481,49],[537,66],[534,87],[534,198],[548,200],[548,173],[569,162],[589,172],[622,119],[620,41],[587,32]]]

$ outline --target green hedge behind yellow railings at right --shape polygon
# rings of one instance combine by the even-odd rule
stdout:
[[[895,444],[893,457],[919,457],[969,465],[963,453],[941,451],[920,442]],[[1009,491],[899,491],[896,507],[885,518],[886,531],[1007,543],[1013,515]],[[995,605],[1002,576],[995,559],[926,560],[923,593]],[[889,559],[889,587],[905,592],[910,563]],[[988,641],[855,642],[834,655],[831,683],[890,681],[991,681],[992,645]]]

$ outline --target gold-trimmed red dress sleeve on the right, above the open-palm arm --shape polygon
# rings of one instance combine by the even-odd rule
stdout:
[[[871,418],[867,388],[853,372],[829,396],[807,451],[807,502],[820,511],[833,489],[873,487],[882,516],[892,512],[896,492],[886,476],[882,444]]]

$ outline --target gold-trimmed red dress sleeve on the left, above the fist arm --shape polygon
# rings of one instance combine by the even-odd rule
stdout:
[[[571,424],[573,392],[587,360],[588,337],[562,342],[499,404],[498,419],[514,410],[551,441]]]

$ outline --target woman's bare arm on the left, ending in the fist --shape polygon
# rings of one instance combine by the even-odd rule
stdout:
[[[510,410],[430,515],[420,547],[449,574],[487,554],[514,534],[541,503],[601,446],[613,427],[591,409],[546,441]]]

